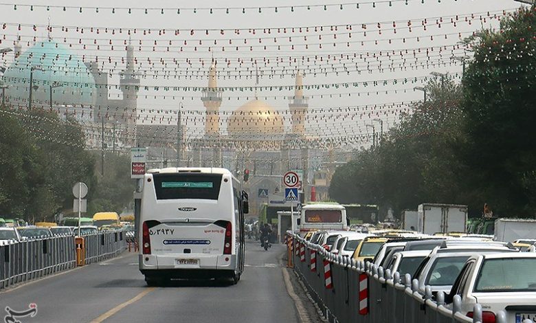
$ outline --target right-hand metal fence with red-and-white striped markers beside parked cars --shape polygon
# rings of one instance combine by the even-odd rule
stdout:
[[[303,280],[311,298],[328,322],[481,322],[482,307],[476,304],[473,318],[462,314],[461,298],[454,296],[452,309],[445,307],[445,296],[432,290],[418,291],[418,281],[407,274],[392,274],[389,269],[355,262],[327,252],[319,245],[293,235],[288,254],[294,270]],[[497,313],[496,323],[506,323]],[[523,323],[533,323],[526,320]]]

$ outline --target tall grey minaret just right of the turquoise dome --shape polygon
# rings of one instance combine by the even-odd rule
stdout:
[[[127,136],[133,137],[133,146],[137,144],[136,134],[136,119],[137,119],[137,91],[139,90],[139,78],[136,77],[134,67],[134,46],[129,40],[129,45],[126,46],[126,66],[122,71],[120,80],[120,88],[123,92],[123,109],[126,109],[126,120],[120,122],[127,126]]]

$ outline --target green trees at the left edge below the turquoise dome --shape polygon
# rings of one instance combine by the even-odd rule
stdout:
[[[72,208],[76,181],[91,183],[93,159],[76,122],[43,110],[0,110],[0,214],[51,220]]]

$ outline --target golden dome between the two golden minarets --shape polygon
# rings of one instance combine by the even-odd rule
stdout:
[[[230,135],[284,133],[283,115],[262,100],[251,100],[231,114],[227,121]]]

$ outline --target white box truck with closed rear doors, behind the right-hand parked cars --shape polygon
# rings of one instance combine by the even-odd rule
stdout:
[[[423,234],[466,232],[467,205],[418,205],[417,231]]]

